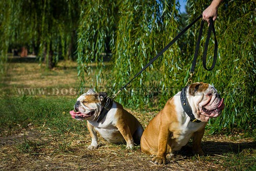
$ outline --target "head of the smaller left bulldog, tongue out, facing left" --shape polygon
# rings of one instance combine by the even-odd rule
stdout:
[[[72,118],[77,120],[95,120],[99,117],[100,112],[104,106],[104,99],[107,97],[105,92],[96,93],[90,89],[87,93],[78,97],[74,109],[70,111]]]

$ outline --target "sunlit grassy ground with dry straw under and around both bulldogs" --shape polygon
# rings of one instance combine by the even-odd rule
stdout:
[[[10,72],[2,77],[0,86],[0,170],[256,169],[254,137],[245,138],[246,133],[209,135],[206,131],[202,147],[207,156],[194,156],[189,142],[175,157],[168,157],[166,165],[152,163],[152,156],[143,154],[139,146],[129,150],[102,138],[99,149],[89,151],[86,123],[69,114],[76,95],[19,95],[16,91],[76,87],[76,63],[60,62],[54,71],[41,70],[33,62],[8,65]],[[159,110],[127,109],[144,127]]]

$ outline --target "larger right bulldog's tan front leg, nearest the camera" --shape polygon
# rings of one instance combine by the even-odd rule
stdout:
[[[168,129],[160,129],[158,137],[157,156],[152,159],[156,164],[166,164],[167,141],[169,137]]]

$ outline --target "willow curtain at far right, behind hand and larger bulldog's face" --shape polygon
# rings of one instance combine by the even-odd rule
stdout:
[[[188,0],[189,18],[202,13],[210,2]],[[215,22],[219,42],[217,65],[211,72],[206,72],[198,61],[196,81],[214,84],[225,98],[223,115],[210,121],[211,131],[236,128],[249,132],[255,130],[255,7],[255,1],[252,0],[223,1]],[[188,41],[190,52],[195,48],[196,33],[189,34],[187,38],[193,40]],[[211,47],[208,52],[209,63],[213,54]]]

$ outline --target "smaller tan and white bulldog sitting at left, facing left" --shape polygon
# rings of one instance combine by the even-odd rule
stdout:
[[[90,89],[77,99],[74,109],[78,112],[70,111],[72,118],[87,120],[87,127],[92,137],[92,143],[88,148],[98,148],[97,133],[111,143],[126,142],[127,148],[133,148],[134,143],[140,144],[144,131],[140,122],[118,102],[113,100],[110,105],[106,104],[109,102],[107,99],[105,92],[96,93]],[[106,111],[105,115],[100,116],[103,111]]]

